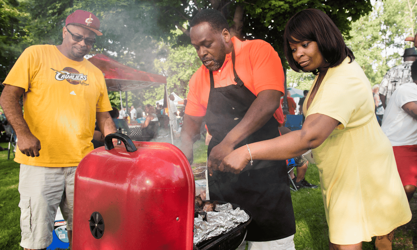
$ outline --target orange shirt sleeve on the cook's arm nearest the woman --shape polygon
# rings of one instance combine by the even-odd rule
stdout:
[[[258,95],[262,90],[278,90],[284,93],[284,70],[278,53],[269,43],[251,51],[254,88]]]

